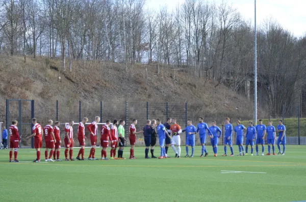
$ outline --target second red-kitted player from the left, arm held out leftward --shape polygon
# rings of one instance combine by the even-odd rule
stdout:
[[[30,139],[31,137],[34,137],[34,148],[36,150],[36,160],[33,162],[40,162],[40,148],[42,148],[42,128],[40,124],[37,123],[37,119],[32,119],[33,126],[33,134],[28,136],[27,139]]]

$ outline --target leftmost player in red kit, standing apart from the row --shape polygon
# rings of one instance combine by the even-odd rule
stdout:
[[[9,127],[9,133],[10,133],[10,162],[19,162],[17,160],[18,155],[18,148],[19,148],[19,142],[20,136],[17,128],[17,121],[13,120],[12,125]],[[12,160],[13,156],[13,150],[14,150],[14,160]]]

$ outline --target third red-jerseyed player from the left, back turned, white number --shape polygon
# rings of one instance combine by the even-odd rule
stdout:
[[[54,136],[54,130],[53,130],[53,121],[49,120],[48,121],[48,125],[46,125],[43,128],[43,136],[45,139],[45,143],[46,143],[46,150],[45,150],[45,161],[54,161],[52,160],[52,155],[54,154],[54,150],[55,150],[55,143],[56,143],[56,139]],[[50,155],[48,158],[48,150],[51,149],[50,151]]]

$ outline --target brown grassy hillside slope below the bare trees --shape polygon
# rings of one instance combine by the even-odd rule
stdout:
[[[79,100],[110,104],[126,100],[188,102],[188,116],[193,119],[204,116],[209,121],[221,121],[227,116],[244,120],[253,117],[252,103],[226,86],[215,87],[211,80],[180,71],[174,73],[168,68],[160,68],[157,74],[156,65],[136,64],[125,71],[117,63],[73,61],[70,72],[61,70],[60,60],[41,57],[28,57],[24,63],[23,57],[0,55],[0,63],[1,120],[5,119],[5,99],[34,99],[36,114],[47,110],[54,114],[56,100],[61,110],[74,106],[72,110],[77,114]],[[259,111],[259,115],[265,114]]]

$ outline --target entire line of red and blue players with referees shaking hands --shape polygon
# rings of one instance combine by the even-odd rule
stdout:
[[[87,128],[90,131],[90,140],[92,148],[90,150],[90,155],[88,157],[89,160],[97,160],[95,158],[95,148],[97,143],[97,131],[98,131],[98,125],[100,118],[95,117],[95,121],[93,121]],[[211,143],[214,151],[214,156],[217,156],[218,152],[218,139],[221,136],[221,130],[219,127],[216,126],[216,122],[212,122],[212,126],[208,127],[206,123],[203,122],[203,118],[200,117],[198,119],[199,123],[197,125],[197,128],[192,125],[192,121],[187,121],[187,127],[182,130],[181,127],[176,123],[176,119],[168,118],[165,125],[161,124],[161,121],[158,120],[152,120],[152,124],[150,120],[147,120],[147,125],[144,127],[143,131],[136,132],[136,124],[137,120],[133,120],[133,123],[130,125],[130,143],[131,143],[131,149],[130,149],[130,159],[136,159],[134,156],[134,147],[136,144],[136,135],[139,133],[144,133],[144,140],[145,140],[145,158],[148,157],[148,148],[149,146],[154,146],[152,144],[152,135],[154,135],[154,132],[158,134],[159,141],[160,141],[160,147],[161,147],[161,156],[162,158],[169,158],[167,155],[169,145],[171,143],[171,147],[173,151],[175,152],[175,157],[180,158],[181,156],[181,137],[180,134],[182,132],[186,132],[187,138],[186,138],[186,156],[189,157],[189,146],[192,148],[192,153],[190,157],[193,157],[194,155],[194,146],[195,146],[195,134],[199,132],[200,142],[202,145],[202,151],[201,156],[203,157],[204,153],[205,156],[208,155],[208,152],[206,150],[206,134],[208,131],[209,137],[211,138]],[[85,124],[88,122],[87,118],[83,118],[82,122],[79,123],[78,126],[78,140],[81,146],[81,149],[79,151],[79,154],[77,156],[78,160],[85,160],[84,159],[84,150],[85,150]],[[170,125],[172,123],[172,125]],[[60,149],[61,149],[61,139],[60,139],[60,122],[55,122],[55,126],[53,127],[53,121],[49,120],[48,125],[46,125],[44,128],[40,126],[40,124],[37,123],[37,120],[34,118],[32,119],[33,126],[33,134],[28,136],[27,139],[34,137],[34,147],[36,149],[36,155],[37,158],[34,160],[34,162],[40,162],[40,148],[42,148],[42,136],[45,139],[46,144],[46,150],[45,150],[45,161],[62,161],[60,159]],[[119,127],[117,128],[117,125],[119,124]],[[270,145],[272,145],[273,149],[273,155],[275,155],[274,152],[274,145],[276,140],[276,131],[275,127],[272,126],[272,121],[269,121],[269,126],[266,127],[262,124],[262,120],[259,120],[259,125],[256,127],[253,127],[252,122],[249,122],[248,128],[240,124],[240,121],[236,121],[236,127],[234,128],[234,132],[236,133],[236,144],[239,146],[239,156],[247,155],[248,152],[248,145],[251,146],[251,155],[253,155],[253,145],[254,140],[256,139],[256,155],[259,155],[258,152],[258,145],[262,145],[262,155],[264,155],[264,145],[265,145],[265,136],[267,135],[267,141],[268,141],[268,154],[271,155],[270,152]],[[70,121],[69,124],[65,127],[65,160],[66,161],[74,161],[72,158],[73,156],[73,128],[74,125],[73,121]],[[109,140],[111,141],[111,159],[116,159],[116,148],[119,145],[118,150],[118,159],[125,159],[122,157],[123,155],[123,147],[124,147],[124,121],[120,120],[119,123],[117,120],[114,120],[112,128],[110,128],[111,121],[107,120],[106,124],[101,128],[101,160],[108,160],[107,158],[107,148]],[[243,147],[243,135],[244,131],[246,130],[246,151],[244,152]],[[153,132],[154,131],[154,132]],[[278,140],[277,140],[277,146],[278,146],[278,154],[285,154],[286,150],[286,127],[283,125],[283,121],[279,120],[279,125],[277,127],[277,132],[279,133]],[[9,127],[9,134],[10,134],[10,162],[18,162],[17,155],[18,155],[18,148],[19,148],[19,142],[20,142],[20,136],[18,133],[17,128],[17,121],[13,120],[12,125]],[[219,135],[218,135],[219,134]],[[257,135],[257,138],[256,138]],[[225,137],[224,137],[224,154],[222,156],[227,156],[227,145],[231,149],[231,156],[234,156],[234,150],[233,150],[233,143],[232,143],[232,137],[233,137],[233,126],[230,124],[230,119],[225,119]],[[155,137],[156,138],[156,137]],[[155,140],[156,142],[156,140]],[[166,143],[166,147],[165,147]],[[283,152],[281,152],[280,145],[283,145]],[[176,148],[175,148],[176,145]],[[50,149],[50,153],[48,156],[48,150]],[[12,159],[14,150],[14,160]],[[152,151],[153,150],[153,151]],[[68,151],[69,151],[69,158],[68,158]],[[242,154],[243,152],[243,154]],[[151,149],[151,155],[152,158],[156,158],[154,156],[154,147]],[[52,159],[52,156],[54,157],[54,160]],[[81,157],[81,158],[80,158]]]

